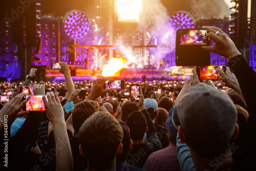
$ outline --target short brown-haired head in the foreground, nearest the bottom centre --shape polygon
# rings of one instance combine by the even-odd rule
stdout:
[[[116,155],[122,152],[123,130],[111,114],[96,112],[82,124],[78,139],[88,167],[106,169],[115,164]]]

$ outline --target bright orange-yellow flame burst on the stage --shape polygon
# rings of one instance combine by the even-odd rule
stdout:
[[[103,77],[116,76],[117,72],[124,68],[124,63],[126,59],[124,58],[111,58],[106,65],[102,68]]]

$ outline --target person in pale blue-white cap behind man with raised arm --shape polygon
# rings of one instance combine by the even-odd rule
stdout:
[[[146,111],[150,114],[152,121],[157,130],[157,135],[159,140],[161,141],[162,148],[165,148],[169,145],[168,138],[166,134],[168,133],[168,129],[164,126],[161,126],[155,123],[155,119],[158,116],[158,104],[155,99],[146,98],[144,99],[144,106]]]

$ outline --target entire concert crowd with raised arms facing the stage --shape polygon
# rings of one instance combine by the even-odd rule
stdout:
[[[0,110],[3,168],[256,170],[256,73],[221,29],[203,29],[216,44],[202,48],[226,57],[233,71],[218,70],[222,81],[200,82],[193,70],[185,81],[127,81],[124,90],[105,90],[107,79],[74,82],[60,62],[65,82],[33,81],[35,69],[25,81],[1,82],[10,97]],[[139,101],[122,104],[134,83]],[[22,110],[31,97],[20,86],[45,95],[46,111]],[[90,90],[86,99],[82,90]]]

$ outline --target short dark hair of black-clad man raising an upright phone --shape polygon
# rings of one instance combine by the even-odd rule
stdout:
[[[126,124],[130,129],[132,140],[141,140],[146,132],[146,117],[140,111],[128,115]]]

